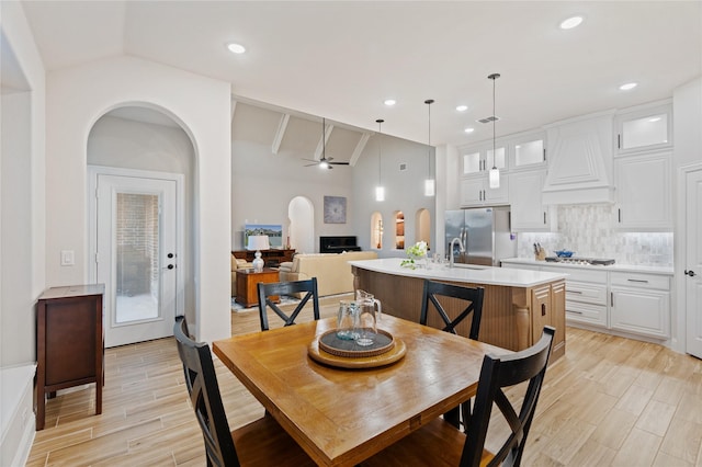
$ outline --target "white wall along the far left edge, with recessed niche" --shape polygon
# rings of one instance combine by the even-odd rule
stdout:
[[[22,5],[1,9],[0,465],[23,465],[34,436],[35,305],[45,286],[45,76]],[[21,77],[14,89],[4,81],[9,67]]]

